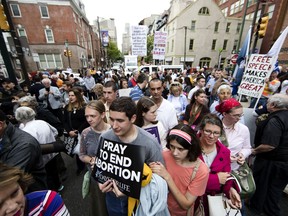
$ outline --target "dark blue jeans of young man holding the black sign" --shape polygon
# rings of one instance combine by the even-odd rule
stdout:
[[[127,216],[128,197],[116,197],[113,192],[106,193],[106,206],[109,216]]]

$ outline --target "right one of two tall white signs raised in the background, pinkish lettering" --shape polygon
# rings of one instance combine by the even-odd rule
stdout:
[[[153,59],[164,60],[167,32],[156,31],[154,34]]]

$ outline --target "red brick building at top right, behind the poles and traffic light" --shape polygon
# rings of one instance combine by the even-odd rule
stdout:
[[[263,39],[258,39],[256,52],[266,54],[281,32],[288,26],[287,0],[214,0],[227,17],[243,17],[246,20],[255,16],[254,33],[260,17],[269,16],[267,30]],[[247,9],[246,9],[247,7]],[[246,9],[246,10],[245,10]],[[245,14],[246,11],[246,14]],[[252,37],[252,45],[255,37]],[[288,66],[288,39],[286,38],[279,53],[279,64]]]

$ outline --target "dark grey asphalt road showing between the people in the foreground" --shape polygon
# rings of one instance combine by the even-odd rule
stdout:
[[[63,183],[65,188],[60,193],[71,216],[89,216],[90,200],[87,196],[82,199],[82,182],[85,172],[76,175],[76,160],[64,153],[61,153],[67,167],[67,179]],[[280,201],[282,216],[288,215],[288,195],[283,193]],[[246,209],[246,216],[258,216]]]

